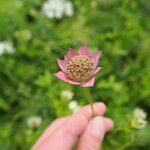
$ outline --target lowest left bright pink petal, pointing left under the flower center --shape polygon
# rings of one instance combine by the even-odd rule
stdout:
[[[59,72],[55,73],[54,75],[55,75],[57,78],[59,78],[59,79],[65,81],[65,82],[68,82],[68,83],[71,83],[71,84],[75,84],[75,85],[80,85],[80,84],[81,84],[81,83],[74,82],[74,81],[68,79],[68,78],[66,77],[66,74],[65,74],[64,72],[62,72],[62,71],[59,71]]]

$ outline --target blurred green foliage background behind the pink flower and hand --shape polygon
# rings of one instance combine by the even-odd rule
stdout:
[[[150,125],[126,127],[136,107],[150,117],[149,6],[149,0],[0,0],[0,150],[30,149],[51,121],[71,114],[64,89],[76,105],[88,103],[82,88],[53,76],[56,59],[83,43],[103,53],[91,93],[122,129],[106,136],[103,149],[149,150]]]

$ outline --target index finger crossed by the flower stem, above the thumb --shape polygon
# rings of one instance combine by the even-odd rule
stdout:
[[[97,115],[103,115],[106,110],[103,103],[95,103],[93,107]],[[63,124],[59,124],[55,132],[52,135],[49,134],[36,150],[70,150],[77,137],[86,129],[91,118],[91,107],[89,105],[83,107],[80,111],[70,116]]]

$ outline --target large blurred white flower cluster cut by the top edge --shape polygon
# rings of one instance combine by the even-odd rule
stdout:
[[[60,19],[63,15],[73,15],[73,5],[67,0],[47,0],[42,6],[42,12],[48,18]]]

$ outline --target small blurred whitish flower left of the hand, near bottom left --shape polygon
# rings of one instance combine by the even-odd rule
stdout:
[[[27,125],[29,128],[38,128],[42,122],[40,116],[31,116],[27,119]]]

